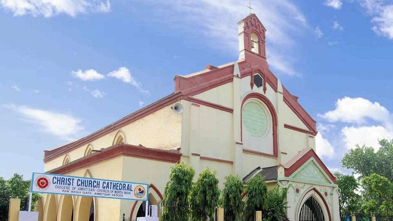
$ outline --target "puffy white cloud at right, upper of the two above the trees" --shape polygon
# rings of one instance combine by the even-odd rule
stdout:
[[[318,114],[329,122],[366,123],[367,119],[377,122],[390,121],[391,114],[378,102],[371,102],[364,98],[344,97],[337,99],[336,109],[324,114]]]

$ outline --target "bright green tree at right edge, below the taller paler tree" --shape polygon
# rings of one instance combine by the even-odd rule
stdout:
[[[362,186],[365,194],[377,202],[381,213],[393,214],[393,184],[390,180],[372,173],[362,179]]]

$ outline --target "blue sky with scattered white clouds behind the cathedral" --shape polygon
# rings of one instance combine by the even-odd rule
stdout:
[[[357,143],[393,137],[393,1],[250,2],[270,68],[317,120],[329,168]],[[0,176],[43,171],[44,149],[170,94],[175,74],[237,60],[247,5],[0,0]]]

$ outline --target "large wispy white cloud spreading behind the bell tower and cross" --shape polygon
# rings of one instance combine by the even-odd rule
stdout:
[[[225,53],[237,53],[239,49],[237,22],[250,12],[246,4],[238,0],[173,0],[144,1],[156,7],[155,16],[159,22],[166,22],[172,28],[188,26],[188,30],[209,38],[208,44]],[[268,62],[279,74],[290,76],[296,73],[296,61],[288,48],[296,48],[294,35],[308,30],[307,20],[298,7],[290,0],[263,0],[252,2],[253,13],[267,29]],[[167,13],[174,10],[176,13]],[[282,59],[276,59],[272,53]],[[296,52],[293,52],[296,53]],[[275,59],[275,60],[274,60]]]

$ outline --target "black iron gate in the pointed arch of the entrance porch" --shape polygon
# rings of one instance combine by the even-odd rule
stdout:
[[[299,221],[325,221],[322,208],[313,197],[307,199],[301,207]]]

